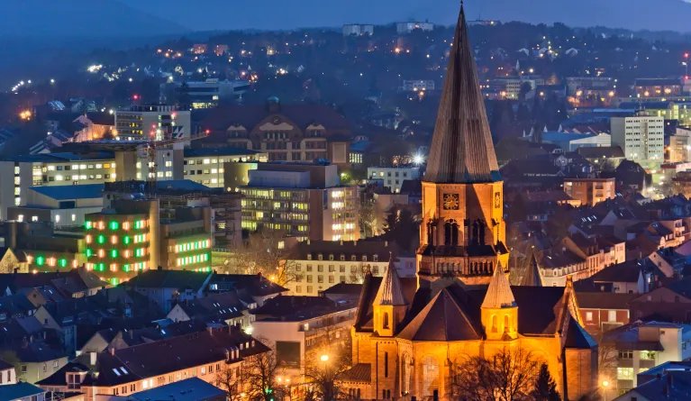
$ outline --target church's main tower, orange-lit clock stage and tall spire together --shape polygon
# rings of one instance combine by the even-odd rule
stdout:
[[[508,266],[504,183],[473,54],[461,5],[423,178],[421,285],[440,278],[487,284],[499,264]]]

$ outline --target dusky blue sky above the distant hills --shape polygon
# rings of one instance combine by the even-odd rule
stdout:
[[[50,0],[52,1],[52,0]],[[456,22],[459,0],[120,0],[194,31],[291,29],[409,18]],[[686,0],[466,0],[468,18],[691,31]],[[641,10],[647,10],[641,12]],[[654,12],[655,17],[650,17]]]

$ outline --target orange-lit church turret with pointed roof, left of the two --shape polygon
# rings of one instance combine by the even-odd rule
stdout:
[[[374,306],[374,331],[382,337],[393,337],[396,334],[396,327],[405,316],[408,305],[393,258],[389,260],[372,305]]]

